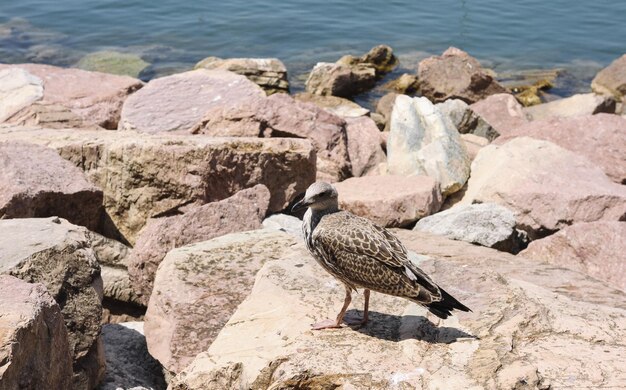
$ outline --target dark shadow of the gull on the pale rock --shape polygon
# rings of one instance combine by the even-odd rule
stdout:
[[[360,310],[348,310],[346,316],[360,317]],[[460,329],[446,326],[437,326],[423,316],[369,312],[369,321],[366,325],[352,327],[359,333],[376,337],[381,340],[403,341],[415,339],[432,344],[451,344],[461,339],[475,339],[477,336],[466,333]]]

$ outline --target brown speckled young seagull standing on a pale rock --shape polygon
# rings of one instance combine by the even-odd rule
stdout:
[[[352,300],[352,291],[364,289],[363,318],[368,320],[370,290],[409,299],[425,306],[439,318],[453,309],[470,311],[408,259],[400,240],[385,228],[347,211],[340,211],[337,190],[325,182],[311,184],[293,211],[304,214],[302,230],[309,252],[346,288],[343,307],[336,320],[313,324],[313,329],[339,328]]]

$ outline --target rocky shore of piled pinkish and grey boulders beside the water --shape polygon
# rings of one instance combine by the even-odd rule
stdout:
[[[561,99],[457,48],[398,63],[293,95],[272,58],[0,64],[0,389],[626,388],[626,54]],[[311,331],[342,294],[290,213],[316,180],[473,312],[374,294]]]

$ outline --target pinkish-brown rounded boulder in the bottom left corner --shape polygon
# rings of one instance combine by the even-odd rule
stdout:
[[[71,387],[72,355],[59,305],[42,284],[0,275],[0,388]]]

